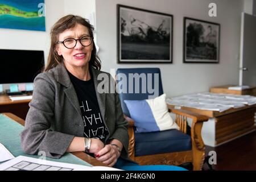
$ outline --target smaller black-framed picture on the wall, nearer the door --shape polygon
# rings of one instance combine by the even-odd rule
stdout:
[[[187,44],[187,39],[189,38],[190,35],[187,34],[187,27],[188,27],[188,22],[198,22],[201,23],[201,26],[205,27],[208,24],[208,28],[210,29],[210,32],[212,32],[212,28],[213,30],[216,32],[216,37],[214,37],[214,33],[211,36],[201,36],[201,40],[207,40],[205,42],[200,42],[200,44],[204,44],[205,46],[203,47],[197,47],[195,44],[196,43],[191,43],[191,46],[189,47]],[[190,27],[191,28],[195,27],[195,24],[193,24],[193,26]],[[189,18],[189,17],[184,17],[183,18],[183,63],[211,63],[211,64],[218,64],[220,63],[220,28],[221,25],[220,23],[215,23],[215,22],[208,22],[206,20],[201,20],[201,19],[195,19],[195,18]],[[203,31],[204,32],[204,31]],[[191,37],[191,36],[190,36]],[[209,38],[210,37],[210,38]],[[190,38],[192,39],[192,38]],[[195,41],[194,41],[195,42]],[[199,44],[199,43],[198,43]],[[210,46],[208,46],[210,45]],[[207,49],[204,52],[209,52],[209,53],[195,53],[195,52],[200,52],[197,51],[196,49]],[[192,49],[195,49],[196,51],[194,53],[192,53]],[[190,52],[190,53],[187,53]],[[203,52],[203,51],[201,51]],[[193,57],[193,59],[188,59],[190,57]],[[199,57],[207,57],[208,59],[202,59]],[[196,58],[197,57],[197,58]]]

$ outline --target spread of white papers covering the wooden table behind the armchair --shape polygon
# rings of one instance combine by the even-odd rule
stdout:
[[[256,104],[256,97],[205,92],[168,98],[166,102],[175,106],[222,112],[231,108],[254,105]]]

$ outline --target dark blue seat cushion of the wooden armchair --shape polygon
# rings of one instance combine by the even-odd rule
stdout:
[[[191,150],[191,137],[178,130],[135,133],[135,156]]]

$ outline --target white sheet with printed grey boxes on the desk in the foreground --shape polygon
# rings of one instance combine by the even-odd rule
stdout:
[[[60,163],[20,155],[0,164],[0,171],[121,171],[121,169],[105,166],[90,167]]]

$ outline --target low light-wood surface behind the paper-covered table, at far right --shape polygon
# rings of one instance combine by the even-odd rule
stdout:
[[[256,96],[256,86],[251,86],[251,88],[243,89],[243,90],[230,90],[228,89],[230,86],[236,86],[236,85],[214,86],[210,88],[210,92]]]

